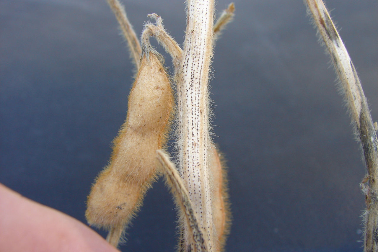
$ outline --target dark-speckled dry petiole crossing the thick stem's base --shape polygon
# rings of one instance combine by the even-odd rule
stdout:
[[[179,207],[180,213],[184,215],[181,216],[181,218],[184,219],[186,226],[189,227],[189,242],[194,244],[195,251],[206,252],[207,249],[204,244],[203,234],[198,226],[192,202],[189,198],[189,193],[183,184],[183,180],[178,174],[175,165],[169,160],[169,156],[162,150],[157,150],[156,153],[162,167],[161,170],[175,199],[176,205]]]

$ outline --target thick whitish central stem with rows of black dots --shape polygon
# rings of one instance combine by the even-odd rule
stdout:
[[[208,169],[209,97],[208,79],[212,57],[213,0],[187,0],[187,27],[178,90],[178,152],[181,177],[189,192],[208,251],[214,250],[211,179]],[[190,251],[184,224],[181,248]]]

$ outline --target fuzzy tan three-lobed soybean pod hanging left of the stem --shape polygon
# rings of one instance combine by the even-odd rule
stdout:
[[[109,165],[92,186],[85,216],[90,225],[124,227],[156,179],[156,150],[165,148],[174,105],[158,53],[147,50],[129,95],[127,119],[113,141]]]

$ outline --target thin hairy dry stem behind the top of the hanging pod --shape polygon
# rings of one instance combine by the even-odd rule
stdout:
[[[141,58],[141,45],[139,43],[138,37],[135,34],[135,31],[129,22],[129,19],[127,19],[127,15],[125,12],[125,8],[122,6],[122,4],[118,0],[107,0],[110,8],[112,8],[112,11],[114,12],[119,25],[121,26],[123,36],[127,40],[127,43],[129,45],[130,54],[133,59],[133,62],[136,66],[136,69],[138,70],[140,67],[140,58]]]

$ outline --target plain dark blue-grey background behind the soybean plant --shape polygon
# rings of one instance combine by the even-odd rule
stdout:
[[[183,0],[124,4],[137,34],[156,12],[183,42]],[[378,119],[378,3],[327,4]],[[235,6],[211,81],[234,216],[227,250],[362,251],[361,151],[304,4]],[[105,0],[0,1],[0,182],[84,223],[133,82],[119,33]],[[174,251],[175,220],[159,181],[122,251]]]

